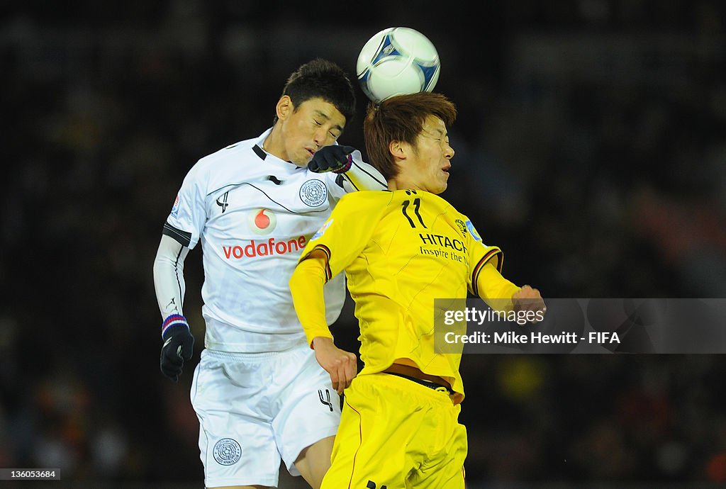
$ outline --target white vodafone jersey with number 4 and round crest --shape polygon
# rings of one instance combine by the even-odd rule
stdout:
[[[164,225],[181,245],[202,243],[210,350],[281,351],[304,340],[288,282],[306,243],[346,193],[340,175],[312,173],[261,149],[269,131],[199,160]],[[339,274],[325,285],[328,324],[344,300]]]

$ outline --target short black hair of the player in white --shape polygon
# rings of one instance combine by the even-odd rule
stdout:
[[[321,98],[335,108],[350,123],[356,115],[356,92],[343,68],[327,59],[313,59],[295,70],[287,78],[282,95],[293,101],[295,110],[309,99]],[[277,122],[277,115],[272,123]]]

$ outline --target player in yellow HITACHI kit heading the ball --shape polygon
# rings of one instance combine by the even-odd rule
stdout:
[[[371,104],[368,157],[390,192],[343,197],[290,279],[317,361],[333,388],[346,390],[321,489],[464,488],[461,354],[434,351],[434,299],[472,292],[490,305],[497,299],[500,311],[502,302],[505,310],[544,311],[539,291],[505,279],[502,251],[484,245],[471,221],[439,197],[454,156],[446,128],[455,118],[441,94]],[[325,322],[323,284],[343,270],[360,325],[357,377],[356,357],[335,346]]]

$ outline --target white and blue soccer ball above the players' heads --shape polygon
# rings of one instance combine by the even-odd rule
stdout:
[[[439,81],[436,46],[417,30],[391,27],[361,49],[356,73],[364,94],[376,104],[394,95],[431,91]]]

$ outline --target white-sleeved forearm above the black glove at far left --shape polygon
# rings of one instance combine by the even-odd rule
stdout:
[[[189,248],[162,236],[154,260],[154,289],[162,319],[181,312],[184,301],[184,258]]]

